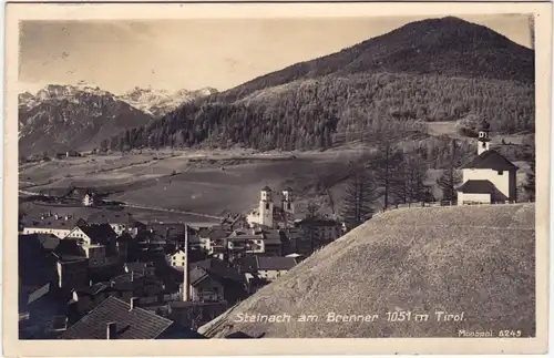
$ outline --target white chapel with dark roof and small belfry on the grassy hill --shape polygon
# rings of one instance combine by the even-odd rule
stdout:
[[[478,156],[462,167],[463,184],[456,188],[458,205],[500,204],[516,201],[517,166],[490,149],[490,124],[482,123]]]

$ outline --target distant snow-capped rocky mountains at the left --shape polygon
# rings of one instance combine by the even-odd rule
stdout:
[[[115,95],[84,82],[23,92],[19,94],[19,149],[22,155],[98,149],[114,133],[151,123],[183,103],[216,92],[135,88]]]

